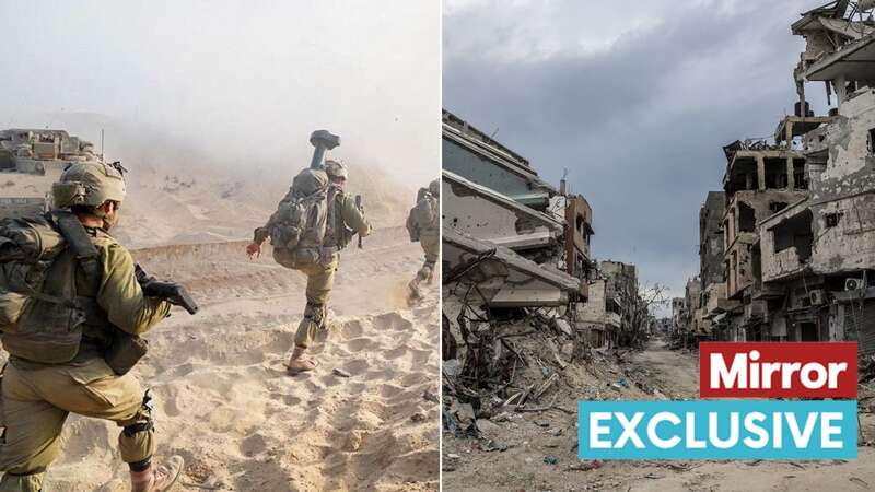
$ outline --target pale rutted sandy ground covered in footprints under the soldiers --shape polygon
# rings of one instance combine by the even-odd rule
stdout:
[[[303,277],[244,259],[242,244],[136,251],[191,286],[203,306],[174,311],[135,371],[158,402],[159,454],[188,461],[177,490],[435,490],[436,292],[415,308],[405,282],[421,261],[400,230],[382,230],[341,260],[319,366],[283,363],[303,309]],[[342,368],[351,377],[332,374]],[[49,490],[126,490],[117,430],[73,417]],[[199,487],[196,487],[199,485]]]

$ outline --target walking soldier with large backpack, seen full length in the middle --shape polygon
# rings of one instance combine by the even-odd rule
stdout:
[[[324,171],[323,171],[324,169]],[[288,367],[291,374],[313,371],[315,365],[306,355],[319,329],[327,326],[328,298],[343,249],[354,234],[371,234],[371,225],[355,206],[354,199],[343,191],[347,167],[336,161],[326,161],[323,169],[306,168],[295,177],[292,189],[280,202],[268,223],[255,230],[253,242],[246,247],[249,257],[261,254],[261,244],[270,237],[273,258],[280,265],[307,276],[304,317],[298,326],[294,351]],[[324,192],[323,192],[324,190]],[[307,201],[311,200],[311,201]],[[325,204],[322,211],[322,204]],[[301,212],[290,212],[301,207]],[[301,227],[290,229],[290,213],[303,216]],[[299,231],[290,234],[289,231]],[[291,247],[288,238],[295,236]],[[300,237],[300,239],[298,238]]]

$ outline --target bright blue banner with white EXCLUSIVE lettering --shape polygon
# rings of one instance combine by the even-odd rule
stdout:
[[[856,400],[580,401],[581,459],[856,459]]]

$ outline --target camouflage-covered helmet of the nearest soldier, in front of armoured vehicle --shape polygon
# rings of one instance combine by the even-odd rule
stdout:
[[[100,207],[106,201],[125,200],[124,168],[117,164],[83,161],[69,164],[51,185],[55,207]]]

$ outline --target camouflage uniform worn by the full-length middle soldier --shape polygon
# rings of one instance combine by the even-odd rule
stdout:
[[[269,237],[272,225],[268,222],[264,227],[257,229],[255,243],[264,243]],[[299,249],[294,261],[293,268],[307,276],[307,304],[295,333],[296,347],[303,349],[310,347],[317,331],[324,328],[327,304],[340,259],[339,250],[349,244],[355,233],[366,236],[371,233],[371,225],[355,207],[355,200],[341,189],[331,186],[328,196],[328,226],[320,253],[305,255]]]

